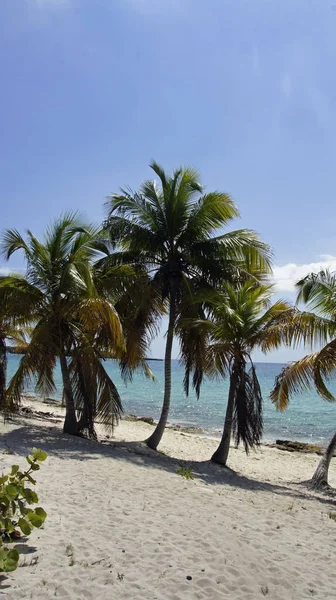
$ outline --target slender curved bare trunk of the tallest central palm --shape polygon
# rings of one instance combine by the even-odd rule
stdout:
[[[170,407],[170,397],[171,397],[171,355],[173,348],[173,339],[174,339],[174,327],[175,327],[175,315],[176,315],[176,301],[175,294],[172,292],[170,296],[170,307],[169,307],[169,323],[168,323],[168,331],[167,331],[167,341],[166,341],[166,352],[165,352],[165,362],[164,362],[164,397],[163,397],[163,406],[161,411],[161,416],[159,422],[153,431],[152,435],[146,440],[147,446],[156,450],[158,447],[161,438],[163,436],[165,427],[167,425],[168,415],[169,415],[169,407]]]

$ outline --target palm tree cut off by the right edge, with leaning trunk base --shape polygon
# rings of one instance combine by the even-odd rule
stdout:
[[[306,342],[323,345],[322,349],[287,365],[276,378],[271,399],[278,410],[284,410],[293,394],[302,393],[315,386],[324,400],[336,400],[326,386],[334,377],[336,368],[336,273],[320,271],[311,273],[297,283],[297,302],[307,305],[306,313],[312,327]],[[336,434],[332,437],[311,479],[316,488],[328,486],[328,471],[336,448]]]

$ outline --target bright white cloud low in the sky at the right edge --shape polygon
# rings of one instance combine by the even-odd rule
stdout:
[[[336,256],[321,254],[320,260],[307,264],[288,263],[283,266],[275,266],[273,269],[273,281],[279,292],[295,291],[295,283],[308,273],[317,273],[320,269],[336,271]]]

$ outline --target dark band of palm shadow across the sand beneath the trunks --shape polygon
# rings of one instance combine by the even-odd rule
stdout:
[[[1,436],[0,453],[26,456],[33,447],[45,450],[50,456],[64,460],[99,460],[110,457],[120,462],[130,462],[141,467],[165,470],[176,474],[181,465],[191,468],[195,480],[205,484],[229,486],[249,491],[268,492],[289,496],[292,499],[314,500],[323,504],[336,505],[332,492],[314,493],[297,483],[280,485],[259,481],[241,475],[228,467],[211,463],[210,461],[184,461],[155,452],[142,442],[104,441],[96,442],[85,438],[64,435],[53,425],[27,425],[26,422],[16,421],[20,427],[8,431]]]

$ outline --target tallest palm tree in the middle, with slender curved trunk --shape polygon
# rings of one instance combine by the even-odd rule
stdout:
[[[242,269],[268,272],[270,251],[250,230],[214,237],[239,213],[228,194],[204,193],[194,169],[168,176],[157,163],[150,166],[159,182],[145,181],[136,193],[121,190],[110,196],[105,228],[121,247],[120,260],[144,265],[168,306],[163,407],[146,440],[156,449],[169,414],[172,346],[182,307],[191,304],[195,290]]]

